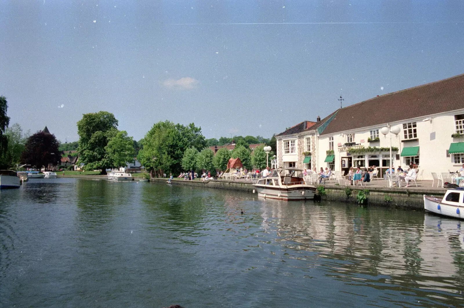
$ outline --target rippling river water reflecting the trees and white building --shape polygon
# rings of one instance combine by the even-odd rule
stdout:
[[[31,179],[0,192],[0,306],[463,307],[463,235],[423,212]]]

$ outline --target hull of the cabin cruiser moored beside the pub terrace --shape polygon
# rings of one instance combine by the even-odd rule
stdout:
[[[294,185],[288,188],[269,185],[254,185],[258,197],[282,201],[314,200],[316,187],[308,185]]]

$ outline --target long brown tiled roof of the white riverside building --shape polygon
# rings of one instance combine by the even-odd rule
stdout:
[[[464,74],[338,109],[321,135],[457,109],[464,109]]]

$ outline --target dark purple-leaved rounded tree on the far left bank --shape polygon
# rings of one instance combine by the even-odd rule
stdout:
[[[47,167],[49,164],[57,164],[63,155],[58,150],[59,142],[55,135],[38,131],[27,138],[21,161],[35,168]]]

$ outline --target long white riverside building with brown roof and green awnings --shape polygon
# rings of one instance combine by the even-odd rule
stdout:
[[[383,135],[381,129],[399,127]],[[390,137],[392,156],[390,157]],[[464,74],[377,96],[303,121],[276,135],[278,167],[380,167],[418,164],[423,178],[464,163]]]

